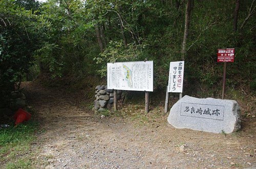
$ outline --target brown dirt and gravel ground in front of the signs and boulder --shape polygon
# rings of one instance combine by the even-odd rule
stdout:
[[[243,120],[242,130],[233,134],[175,129],[167,124],[163,108],[154,121],[140,123],[95,115],[90,106],[80,106],[80,93],[33,83],[24,88],[34,118],[41,122],[31,150],[36,168],[256,167],[255,118]]]

